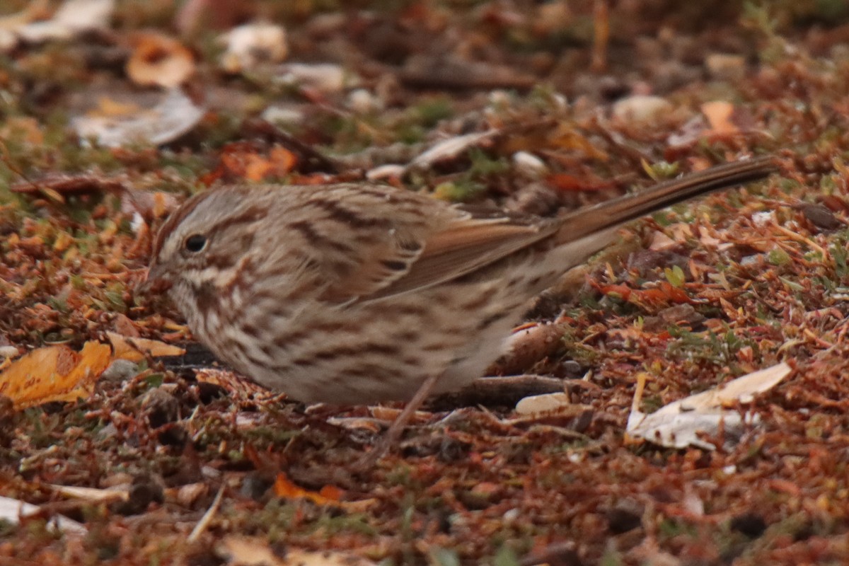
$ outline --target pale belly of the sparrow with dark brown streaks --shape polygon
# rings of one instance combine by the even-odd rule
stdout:
[[[432,375],[442,376],[436,392],[481,377],[525,303],[507,300],[498,281],[441,285],[335,310],[301,305],[289,317],[257,306],[239,317],[259,317],[251,328],[199,338],[239,373],[298,401],[408,401]]]

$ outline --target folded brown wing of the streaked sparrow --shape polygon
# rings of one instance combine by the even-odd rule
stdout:
[[[314,266],[311,277],[322,282],[321,298],[336,303],[379,300],[462,277],[558,227],[394,188],[323,190],[290,210],[290,226],[312,244],[298,248]]]

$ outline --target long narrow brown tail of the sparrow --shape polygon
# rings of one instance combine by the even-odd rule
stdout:
[[[556,238],[561,243],[575,241],[700,194],[757,181],[778,169],[773,156],[767,155],[717,165],[705,171],[661,182],[639,193],[626,194],[562,217],[562,227]]]

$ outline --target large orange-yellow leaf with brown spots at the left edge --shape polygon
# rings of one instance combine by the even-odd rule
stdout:
[[[11,399],[16,409],[76,401],[91,395],[110,361],[110,347],[98,342],[86,342],[79,354],[67,346],[39,348],[0,373],[0,395]]]

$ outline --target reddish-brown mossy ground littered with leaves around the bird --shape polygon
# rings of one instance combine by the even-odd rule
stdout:
[[[0,564],[849,562],[847,115],[838,0],[2,3]],[[134,292],[226,183],[552,216],[760,154],[537,300],[491,368],[527,377],[431,401],[366,470],[402,405],[269,394]],[[635,395],[779,362],[739,430],[626,434]]]

